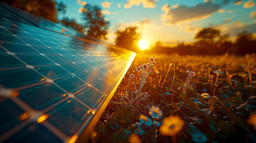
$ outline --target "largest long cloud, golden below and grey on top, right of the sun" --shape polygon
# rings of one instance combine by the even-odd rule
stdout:
[[[186,23],[192,20],[201,20],[208,18],[212,13],[218,11],[221,5],[207,2],[198,4],[196,7],[180,6],[174,10],[171,10],[168,4],[162,7],[162,23],[167,26],[173,26],[177,23]]]

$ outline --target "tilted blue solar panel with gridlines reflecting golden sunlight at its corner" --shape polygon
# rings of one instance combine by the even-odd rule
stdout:
[[[0,142],[87,138],[134,52],[0,4]]]

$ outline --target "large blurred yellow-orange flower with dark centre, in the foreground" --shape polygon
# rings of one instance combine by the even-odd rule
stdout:
[[[180,117],[171,115],[163,120],[159,130],[162,135],[174,136],[180,132],[183,126],[184,121]]]

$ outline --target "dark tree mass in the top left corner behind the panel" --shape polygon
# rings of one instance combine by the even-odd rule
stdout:
[[[58,22],[57,13],[65,13],[66,5],[54,0],[2,0],[13,7],[20,8],[38,17]]]

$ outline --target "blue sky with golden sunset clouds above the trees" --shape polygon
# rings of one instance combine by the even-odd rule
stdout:
[[[110,21],[107,42],[115,44],[116,31],[137,26],[141,39],[164,45],[190,43],[203,27],[214,27],[230,38],[246,30],[256,33],[255,0],[57,0],[66,6],[64,16],[82,24],[83,5],[101,7]],[[63,15],[62,15],[63,16]]]

